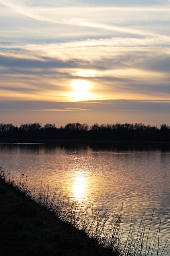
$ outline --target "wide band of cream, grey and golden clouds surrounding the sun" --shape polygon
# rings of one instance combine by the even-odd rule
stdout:
[[[124,46],[117,47],[119,41]],[[170,48],[140,44],[135,38],[11,44],[6,48],[1,44],[1,97],[11,97],[10,90],[20,93],[18,99],[68,100],[72,80],[83,79],[91,83],[98,99],[125,95],[129,99],[168,99]]]

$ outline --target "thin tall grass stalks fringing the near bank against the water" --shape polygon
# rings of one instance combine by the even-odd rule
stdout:
[[[66,198],[59,192],[57,186],[54,191],[51,191],[50,182],[43,184],[43,179],[41,180],[40,189],[35,191],[27,182],[27,177],[24,174],[21,174],[20,179],[15,181],[10,173],[4,172],[2,166],[0,167],[0,179],[55,214],[63,222],[70,223],[74,228],[82,230],[98,244],[110,248],[115,255],[168,256],[170,236],[163,244],[163,237],[160,235],[163,216],[154,234],[151,232],[154,212],[148,229],[144,220],[145,213],[141,222],[136,226],[132,212],[131,222],[127,224],[127,229],[123,230],[121,228],[123,202],[119,214],[117,214],[117,206],[115,212],[111,213],[107,204],[97,210],[94,209],[91,200],[88,205],[84,206],[84,202],[72,202],[69,198]]]

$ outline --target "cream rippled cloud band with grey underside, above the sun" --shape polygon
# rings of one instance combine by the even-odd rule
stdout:
[[[44,69],[77,68],[78,66],[81,68],[91,63],[99,70],[102,66],[102,69],[108,69],[109,65],[119,68],[120,66],[133,66],[133,64],[135,66],[145,65],[147,68],[150,68],[149,65],[152,64],[156,70],[166,69],[170,49],[166,45],[162,47],[154,46],[153,42],[149,43],[145,40],[143,44],[141,42],[142,40],[135,38],[124,40],[106,38],[55,44],[20,44],[18,45],[19,51],[14,50],[17,45],[8,45],[4,50],[5,46],[1,44],[0,58],[3,66],[10,68],[29,68],[30,66]]]

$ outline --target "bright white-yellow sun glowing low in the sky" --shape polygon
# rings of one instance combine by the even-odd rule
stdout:
[[[72,82],[73,92],[70,94],[72,100],[88,100],[92,98],[92,94],[89,92],[91,87],[90,82],[86,80],[74,80]]]

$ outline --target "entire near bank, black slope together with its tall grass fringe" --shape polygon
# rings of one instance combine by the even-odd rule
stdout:
[[[162,244],[161,221],[152,234],[144,216],[136,228],[133,218],[123,238],[123,203],[119,214],[107,204],[94,210],[72,202],[66,196],[41,183],[35,191],[27,177],[18,181],[0,167],[0,255],[42,256],[168,256],[169,238]],[[126,231],[127,231],[126,230]]]

